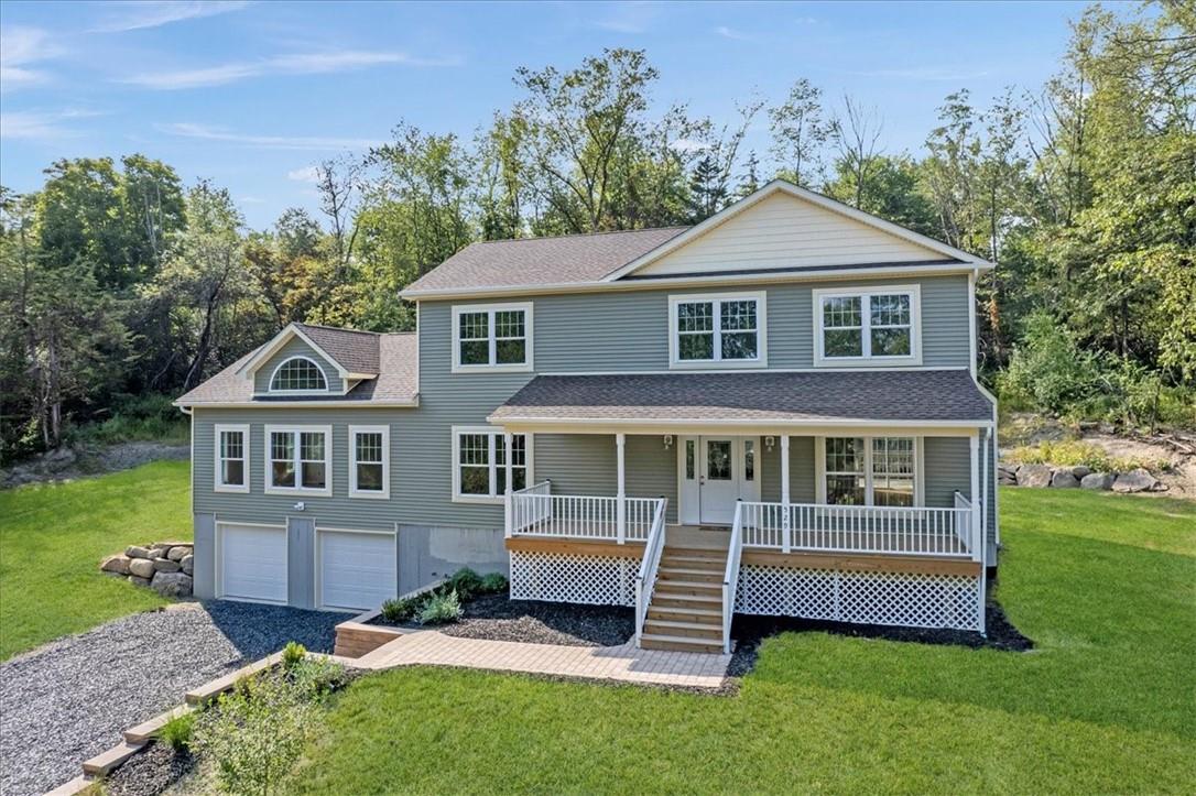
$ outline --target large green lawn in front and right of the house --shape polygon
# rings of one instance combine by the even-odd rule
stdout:
[[[1190,792],[1196,506],[1006,490],[1033,653],[788,633],[732,698],[399,669],[342,694],[299,792]]]

